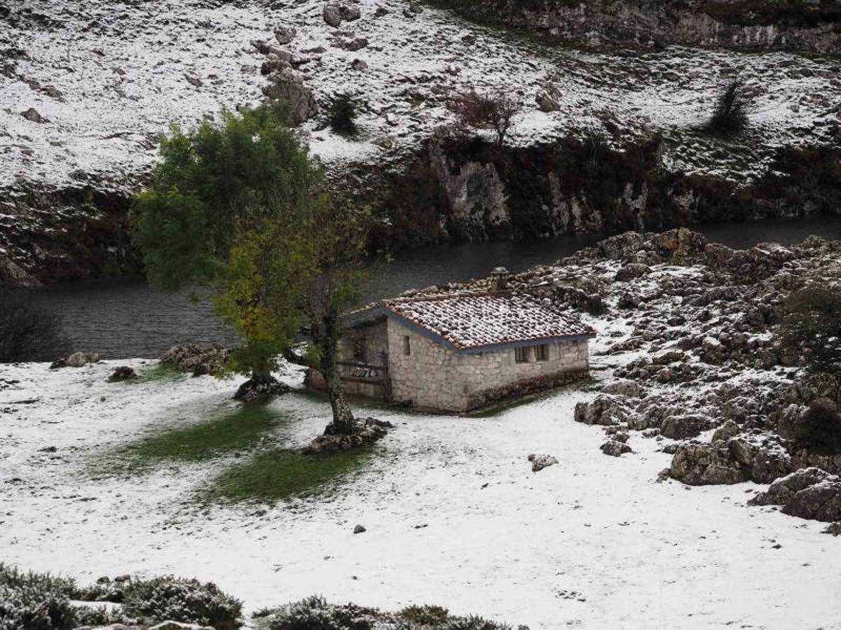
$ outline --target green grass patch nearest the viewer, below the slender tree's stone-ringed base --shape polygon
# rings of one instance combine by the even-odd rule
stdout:
[[[213,480],[201,501],[274,503],[291,496],[323,495],[348,475],[361,470],[373,449],[304,455],[297,449],[269,449],[235,465]]]

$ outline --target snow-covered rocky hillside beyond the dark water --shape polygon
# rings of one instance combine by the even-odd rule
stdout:
[[[322,104],[339,92],[364,103],[361,140],[317,131],[321,120],[307,125],[313,152],[329,164],[382,160],[416,146],[452,119],[445,102],[468,87],[502,89],[522,103],[515,142],[587,129],[660,129],[672,138],[671,166],[737,181],[762,172],[769,149],[825,140],[839,122],[841,75],[833,60],[679,47],[630,55],[567,50],[434,8],[411,13],[402,0],[357,6],[361,18],[333,29],[321,0],[14,3],[0,29],[0,186],[66,186],[88,176],[133,186],[169,123],[190,125],[222,107],[260,101],[264,58],[254,39],[292,53]],[[375,16],[378,7],[387,13]],[[297,29],[289,45],[274,40],[278,26]],[[347,50],[357,38],[368,45]],[[368,69],[352,70],[357,59]],[[722,155],[717,143],[680,130],[706,118],[738,74],[754,95],[752,131],[748,147]],[[537,109],[535,97],[547,88],[557,112]],[[29,108],[46,122],[24,118]]]

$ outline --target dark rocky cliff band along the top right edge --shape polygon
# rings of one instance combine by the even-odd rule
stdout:
[[[447,3],[468,18],[531,29],[548,39],[588,47],[679,44],[748,50],[841,52],[837,3],[750,3],[733,0],[608,0],[601,3]]]

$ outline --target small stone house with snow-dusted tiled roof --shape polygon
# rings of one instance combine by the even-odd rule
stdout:
[[[467,412],[587,378],[594,336],[563,308],[510,291],[404,297],[349,315],[339,360],[347,393]]]

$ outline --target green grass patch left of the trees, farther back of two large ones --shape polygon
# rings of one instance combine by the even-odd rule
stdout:
[[[242,405],[234,412],[210,420],[170,427],[151,433],[119,449],[130,465],[155,464],[161,460],[202,461],[253,448],[288,415],[264,405]]]

